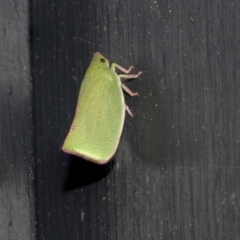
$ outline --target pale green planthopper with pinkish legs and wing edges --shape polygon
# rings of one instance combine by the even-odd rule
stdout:
[[[117,74],[116,68],[124,74]],[[121,79],[138,78],[129,74],[133,66],[125,69],[112,63],[99,52],[95,53],[87,69],[78,98],[73,123],[62,150],[97,164],[107,163],[115,154],[121,137],[125,111],[123,90],[137,96]],[[123,90],[122,90],[123,89]]]

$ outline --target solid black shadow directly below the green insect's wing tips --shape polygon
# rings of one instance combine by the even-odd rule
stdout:
[[[113,169],[114,158],[107,164],[99,165],[83,158],[69,155],[69,170],[64,191],[88,186],[105,178]]]

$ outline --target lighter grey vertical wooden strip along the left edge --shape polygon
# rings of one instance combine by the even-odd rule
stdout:
[[[0,0],[0,239],[34,239],[28,2]]]

